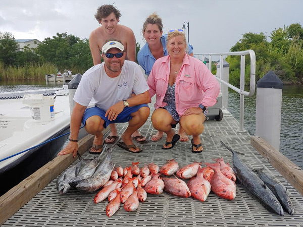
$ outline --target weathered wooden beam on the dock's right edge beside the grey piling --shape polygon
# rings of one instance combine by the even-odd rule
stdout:
[[[258,136],[250,137],[250,144],[303,195],[303,170]]]

